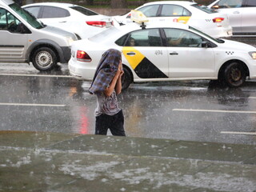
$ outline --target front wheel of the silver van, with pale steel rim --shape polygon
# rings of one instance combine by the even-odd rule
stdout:
[[[32,63],[37,70],[52,70],[57,66],[57,57],[50,48],[41,47],[34,51]]]

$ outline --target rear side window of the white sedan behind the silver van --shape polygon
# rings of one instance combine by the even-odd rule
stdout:
[[[44,6],[41,18],[66,18],[70,16],[68,10],[54,6]]]

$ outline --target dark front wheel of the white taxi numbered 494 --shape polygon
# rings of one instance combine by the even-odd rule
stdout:
[[[238,87],[246,81],[246,72],[238,62],[231,62],[224,70],[224,80],[227,86]]]

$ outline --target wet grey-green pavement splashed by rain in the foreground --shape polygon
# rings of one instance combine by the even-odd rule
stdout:
[[[256,146],[0,131],[0,191],[256,191]]]

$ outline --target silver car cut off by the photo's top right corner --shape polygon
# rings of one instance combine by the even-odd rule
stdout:
[[[208,7],[230,18],[235,36],[256,35],[256,1],[255,0],[217,0]]]

